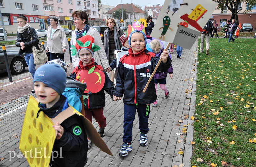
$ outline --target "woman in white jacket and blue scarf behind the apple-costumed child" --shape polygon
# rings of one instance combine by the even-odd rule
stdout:
[[[108,59],[106,57],[106,53],[104,50],[103,43],[100,38],[99,32],[89,26],[89,18],[85,11],[77,10],[72,13],[73,21],[76,26],[76,30],[72,32],[72,44],[76,44],[76,39],[82,37],[84,31],[86,31],[86,35],[90,35],[94,38],[94,44],[99,46],[101,49],[97,52],[94,52],[93,58],[94,61],[101,65],[105,70],[110,71],[110,66],[108,64]],[[71,48],[72,50],[72,48]],[[73,67],[77,67],[79,64],[80,58],[77,55],[72,56]]]

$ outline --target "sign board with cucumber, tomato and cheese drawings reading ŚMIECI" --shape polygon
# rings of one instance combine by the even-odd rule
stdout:
[[[150,36],[190,49],[217,5],[212,0],[165,0]]]

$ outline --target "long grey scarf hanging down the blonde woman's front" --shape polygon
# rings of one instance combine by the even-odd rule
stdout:
[[[109,55],[109,31],[110,29],[108,28],[106,32],[106,37],[104,38],[107,59]],[[115,41],[116,50],[121,50],[121,44],[120,44],[121,42],[120,42],[120,39],[118,38],[116,26],[114,26],[114,41]]]

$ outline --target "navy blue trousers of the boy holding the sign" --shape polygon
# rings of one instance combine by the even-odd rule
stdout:
[[[150,112],[149,104],[124,104],[124,136],[123,142],[132,141],[132,125],[135,119],[136,110],[139,116],[139,129],[141,133],[147,134],[148,118]]]

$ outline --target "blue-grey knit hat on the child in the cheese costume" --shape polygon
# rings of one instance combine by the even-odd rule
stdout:
[[[43,82],[61,95],[66,87],[66,78],[66,72],[61,66],[45,64],[36,70],[33,83]]]

